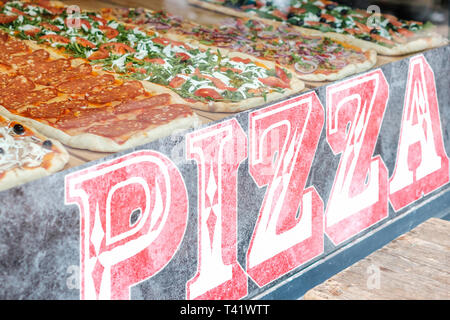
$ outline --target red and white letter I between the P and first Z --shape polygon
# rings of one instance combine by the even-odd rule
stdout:
[[[186,137],[186,157],[198,167],[198,270],[187,299],[236,300],[247,295],[237,262],[237,170],[247,137],[236,119]]]

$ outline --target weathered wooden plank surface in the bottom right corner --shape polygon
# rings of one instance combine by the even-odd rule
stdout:
[[[450,299],[450,222],[429,219],[304,299]]]

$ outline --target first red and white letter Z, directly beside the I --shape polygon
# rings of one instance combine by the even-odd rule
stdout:
[[[323,201],[305,190],[324,123],[315,92],[249,115],[249,171],[267,191],[247,253],[263,286],[323,252]]]

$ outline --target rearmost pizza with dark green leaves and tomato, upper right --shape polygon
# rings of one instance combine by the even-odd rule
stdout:
[[[403,55],[448,43],[431,23],[373,14],[327,0],[188,1],[229,15],[289,23],[308,34],[325,35],[361,48],[374,49],[381,55]]]

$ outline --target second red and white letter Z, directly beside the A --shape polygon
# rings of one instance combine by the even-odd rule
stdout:
[[[335,244],[388,216],[387,169],[372,157],[388,92],[380,69],[327,87],[327,141],[341,154],[325,213]]]

